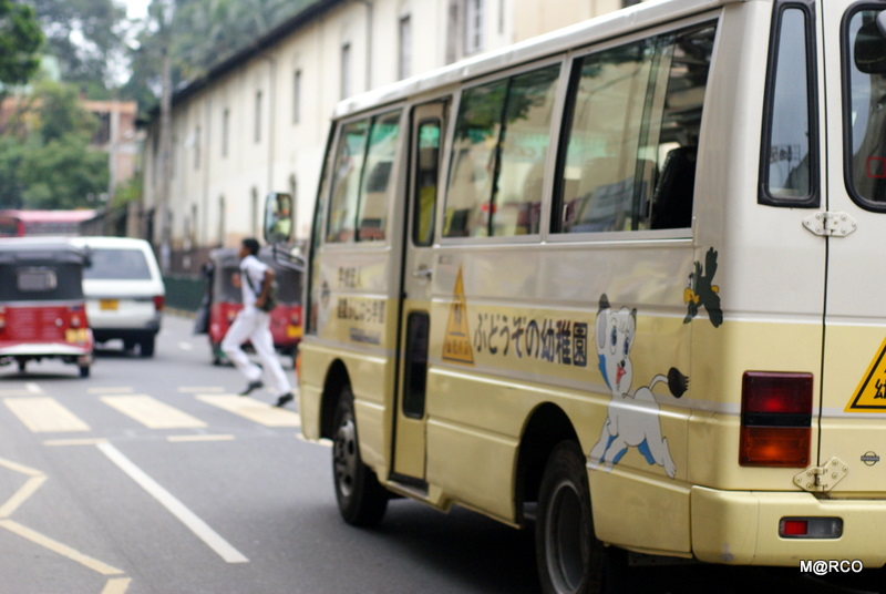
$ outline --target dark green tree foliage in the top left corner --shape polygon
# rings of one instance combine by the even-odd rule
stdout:
[[[0,83],[23,84],[40,66],[43,34],[33,8],[0,0]]]

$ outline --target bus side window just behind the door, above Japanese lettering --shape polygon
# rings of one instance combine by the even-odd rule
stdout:
[[[468,89],[446,195],[446,237],[538,233],[560,66]]]

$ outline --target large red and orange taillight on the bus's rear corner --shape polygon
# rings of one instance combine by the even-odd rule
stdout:
[[[739,463],[805,468],[812,442],[812,373],[745,371]]]

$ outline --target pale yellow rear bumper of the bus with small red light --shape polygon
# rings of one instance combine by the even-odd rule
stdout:
[[[807,492],[691,490],[692,550],[710,563],[800,566],[801,561],[886,564],[886,500],[825,500]],[[833,539],[783,539],[783,518],[839,518]]]

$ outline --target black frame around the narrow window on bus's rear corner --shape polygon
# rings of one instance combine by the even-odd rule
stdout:
[[[805,17],[806,35],[806,110],[810,120],[810,193],[805,196],[774,196],[769,190],[770,154],[772,151],[772,122],[774,119],[775,82],[779,65],[779,42],[781,40],[784,13],[801,10]],[[772,12],[770,28],[769,57],[766,58],[766,79],[763,105],[763,126],[760,144],[760,172],[758,178],[758,204],[787,208],[821,207],[821,144],[818,115],[818,61],[815,35],[815,10],[811,2],[797,0],[776,2]]]

